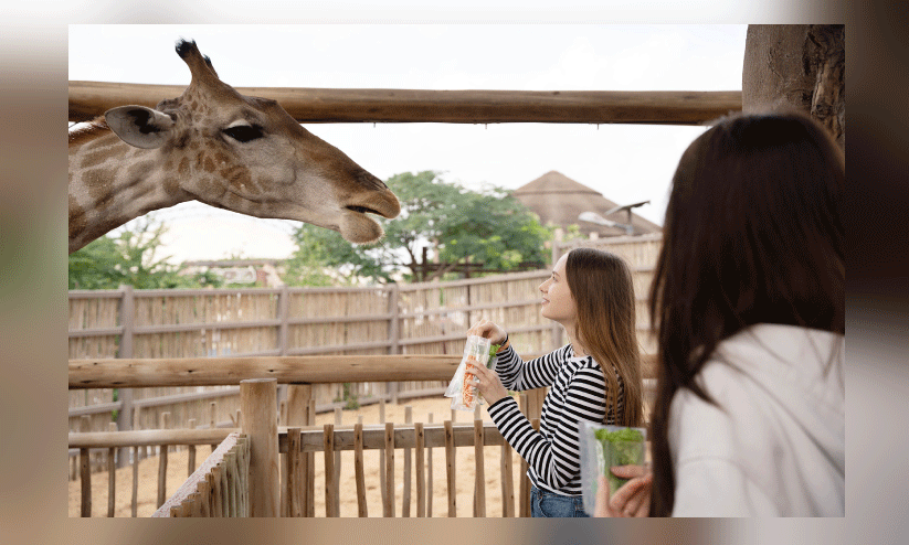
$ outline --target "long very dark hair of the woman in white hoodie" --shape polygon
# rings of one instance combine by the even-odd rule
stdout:
[[[720,120],[673,178],[651,286],[657,395],[651,513],[672,514],[669,407],[717,344],[757,323],[845,334],[845,159],[825,129],[794,114]]]

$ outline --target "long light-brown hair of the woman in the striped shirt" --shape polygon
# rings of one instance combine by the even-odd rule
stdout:
[[[566,278],[578,309],[578,339],[606,381],[612,404],[606,414],[612,413],[616,426],[640,426],[643,383],[631,270],[609,252],[574,248],[566,260]]]

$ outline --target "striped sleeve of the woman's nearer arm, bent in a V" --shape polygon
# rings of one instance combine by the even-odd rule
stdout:
[[[605,384],[600,368],[579,368],[569,381],[563,395],[561,409],[558,414],[553,410],[549,415],[552,419],[547,420],[549,438],[533,429],[514,397],[504,397],[488,408],[489,416],[505,440],[554,490],[563,490],[580,473],[580,421],[603,421],[606,410]]]

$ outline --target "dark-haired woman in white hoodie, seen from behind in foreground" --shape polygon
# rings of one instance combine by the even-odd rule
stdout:
[[[598,515],[845,514],[844,185],[800,114],[727,118],[685,151],[651,290],[653,474]]]

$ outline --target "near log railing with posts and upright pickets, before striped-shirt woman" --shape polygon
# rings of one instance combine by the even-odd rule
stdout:
[[[330,361],[329,361],[330,360]],[[256,436],[247,426],[253,426],[256,420],[271,423],[274,426],[274,431],[268,431],[269,436],[274,436],[274,451],[276,457],[283,457],[283,461],[276,462],[273,467],[278,468],[277,473],[285,475],[279,482],[284,485],[277,484],[281,493],[278,500],[274,500],[276,513],[286,516],[302,514],[304,516],[314,516],[314,479],[311,479],[313,468],[315,468],[315,456],[321,451],[326,456],[326,467],[338,463],[335,455],[339,455],[345,450],[352,450],[355,455],[362,450],[378,450],[380,452],[380,466],[383,471],[380,473],[381,483],[380,489],[383,492],[383,514],[393,516],[394,509],[391,506],[394,503],[393,498],[393,472],[389,468],[393,468],[394,452],[400,451],[404,455],[404,460],[410,458],[412,449],[419,450],[441,448],[446,449],[446,460],[452,464],[451,473],[448,474],[448,501],[450,513],[453,512],[452,505],[454,503],[455,490],[455,473],[454,473],[454,451],[458,448],[474,447],[477,466],[474,468],[474,475],[482,475],[484,472],[483,447],[499,446],[503,453],[510,451],[510,447],[504,445],[501,436],[494,426],[483,424],[475,420],[471,424],[454,424],[452,421],[433,424],[433,423],[405,423],[403,426],[394,423],[387,423],[384,425],[376,426],[332,426],[315,427],[315,399],[311,398],[311,386],[314,383],[320,381],[325,382],[355,382],[355,381],[377,381],[377,380],[400,380],[406,376],[426,376],[431,380],[450,380],[454,374],[459,356],[296,356],[296,357],[257,357],[257,359],[224,359],[212,360],[207,359],[207,364],[213,364],[214,370],[199,370],[195,365],[198,362],[192,360],[109,360],[109,361],[72,361],[70,363],[70,387],[97,387],[98,384],[104,385],[123,385],[124,387],[138,387],[148,384],[228,384],[231,381],[236,381],[241,376],[246,376],[253,381],[244,380],[241,382],[241,393],[243,384],[247,382],[262,382],[266,380],[269,384],[276,385],[278,382],[288,384],[288,400],[284,408],[284,419],[289,423],[281,429],[277,427],[277,404],[276,398],[271,397],[261,403],[245,403],[241,412],[237,413],[236,420],[242,423],[242,429],[177,429],[177,430],[144,430],[144,431],[106,431],[106,432],[87,432],[87,434],[70,434],[70,448],[78,449],[81,458],[87,460],[89,449],[107,450],[108,457],[114,456],[117,449],[128,449],[131,447],[134,452],[139,447],[162,447],[162,460],[159,470],[159,499],[158,505],[165,503],[162,480],[166,472],[166,453],[167,447],[173,445],[218,445],[231,432],[243,431],[251,437],[252,445],[256,445]],[[652,376],[653,362],[645,362],[645,376]],[[208,365],[205,366],[208,367]],[[177,378],[179,377],[179,378]],[[539,418],[542,396],[545,391],[531,391],[528,394],[522,394],[521,409],[533,421]],[[242,395],[241,395],[242,397]],[[271,409],[269,409],[271,408]],[[252,412],[252,414],[251,414]],[[260,416],[254,417],[255,412],[261,413]],[[241,418],[242,416],[242,418]],[[475,415],[475,418],[478,415]],[[422,429],[422,434],[421,430]],[[297,442],[297,430],[299,430],[299,439]],[[357,439],[358,430],[360,440]],[[421,447],[422,435],[422,447]],[[269,439],[271,441],[271,439]],[[295,447],[299,445],[299,447]],[[327,447],[327,448],[326,448]],[[255,452],[251,455],[252,460],[256,459]],[[511,516],[508,507],[507,498],[511,498],[514,491],[514,481],[511,477],[510,462],[503,458],[501,461],[501,483],[504,488],[504,509],[503,515]],[[330,461],[329,461],[330,459]],[[417,464],[415,472],[417,473],[416,482],[423,483],[423,478],[419,477],[421,472],[421,464],[423,457],[416,455]],[[431,458],[427,458],[427,461]],[[134,460],[135,461],[135,460]],[[524,464],[524,462],[521,462]],[[86,464],[83,464],[84,467]],[[355,466],[356,456],[355,456]],[[355,474],[357,474],[358,502],[361,500],[361,490],[364,489],[362,470],[355,467]],[[112,468],[113,472],[113,468]],[[274,471],[273,471],[274,473]],[[526,466],[521,468],[520,475],[526,473]],[[337,515],[338,481],[331,475],[332,471],[326,472],[326,515]],[[136,489],[136,466],[134,464],[134,516],[135,510],[135,489]],[[305,477],[304,477],[305,475]],[[83,487],[83,516],[91,516],[91,472],[82,471],[82,487]],[[268,477],[272,479],[273,477]],[[256,477],[251,480],[256,480]],[[281,478],[279,478],[281,479]],[[479,478],[477,478],[479,479]],[[410,490],[410,470],[405,467],[405,481],[408,482],[406,490]],[[429,479],[426,480],[431,482]],[[517,514],[520,516],[526,513],[526,498],[529,493],[526,477],[520,478],[519,492],[517,493],[518,503],[520,505]],[[484,484],[477,480],[477,491],[475,492],[475,513],[483,516],[485,512],[485,493]],[[294,484],[296,483],[296,484]],[[431,484],[430,484],[431,485]],[[417,484],[417,496],[420,493],[420,484]],[[408,492],[409,493],[409,492]],[[426,498],[431,498],[432,491],[424,491]],[[113,498],[114,492],[110,492]],[[330,500],[330,502],[329,502]],[[363,504],[364,505],[364,504]],[[406,505],[410,505],[408,500]],[[416,513],[421,512],[430,515],[430,509],[422,507],[422,502],[417,498]],[[426,505],[431,505],[429,501]],[[364,507],[360,507],[361,513],[366,515]],[[113,513],[108,514],[113,516]],[[182,511],[181,511],[182,513]],[[404,509],[402,509],[404,515]]]

